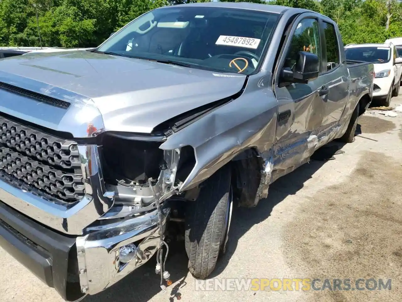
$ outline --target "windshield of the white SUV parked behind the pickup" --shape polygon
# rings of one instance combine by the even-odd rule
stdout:
[[[353,47],[345,49],[345,55],[347,60],[381,64],[390,62],[390,50],[389,47]]]

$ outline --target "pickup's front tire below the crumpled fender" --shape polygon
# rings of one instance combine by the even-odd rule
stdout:
[[[232,209],[231,170],[225,165],[203,184],[195,202],[186,207],[185,248],[190,273],[207,278],[224,251]]]

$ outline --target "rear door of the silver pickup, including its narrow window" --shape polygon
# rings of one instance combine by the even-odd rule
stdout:
[[[328,91],[320,96],[324,108],[322,124],[318,131],[318,145],[324,145],[334,138],[338,122],[348,100],[349,72],[345,56],[340,56],[343,45],[339,31],[330,19],[320,19],[323,41],[323,87]]]

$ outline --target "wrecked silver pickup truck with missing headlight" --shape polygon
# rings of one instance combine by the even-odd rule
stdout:
[[[0,246],[65,300],[154,254],[166,290],[166,230],[181,221],[206,278],[233,204],[352,142],[373,76],[347,64],[327,17],[231,2],[157,8],[92,50],[1,60]]]

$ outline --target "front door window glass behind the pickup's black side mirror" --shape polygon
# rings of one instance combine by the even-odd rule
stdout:
[[[320,33],[316,19],[303,19],[297,24],[286,54],[284,67],[293,68],[297,60],[297,53],[300,51],[316,54],[321,65]]]

